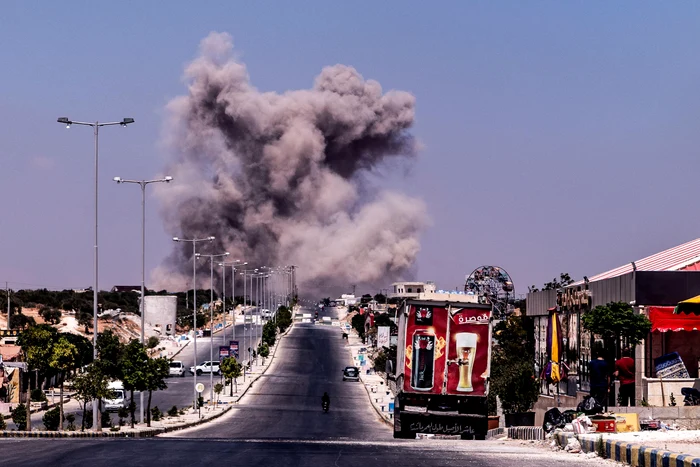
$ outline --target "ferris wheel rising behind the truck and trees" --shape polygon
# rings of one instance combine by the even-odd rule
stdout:
[[[479,303],[493,305],[493,314],[502,319],[513,312],[515,287],[508,272],[498,266],[480,266],[467,276],[464,291],[479,297]]]

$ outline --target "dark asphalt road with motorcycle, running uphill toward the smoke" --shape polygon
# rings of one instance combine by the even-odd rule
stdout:
[[[515,443],[394,440],[361,383],[343,382],[349,362],[337,327],[295,325],[268,374],[239,406],[200,427],[154,439],[0,439],[3,464],[237,466],[604,465]],[[328,391],[331,408],[321,411]]]

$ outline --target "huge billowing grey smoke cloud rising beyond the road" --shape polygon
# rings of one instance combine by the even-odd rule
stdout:
[[[425,205],[368,190],[366,175],[415,154],[407,132],[414,97],[382,94],[344,65],[324,68],[312,89],[263,93],[232,57],[229,35],[212,33],[200,49],[186,69],[188,95],[168,106],[175,182],[157,193],[169,233],[216,236],[198,245],[202,253],[294,264],[302,293],[377,290],[405,275],[428,221]],[[200,261],[198,285],[208,287],[209,264]],[[191,271],[191,244],[175,244],[153,285],[191,287]]]

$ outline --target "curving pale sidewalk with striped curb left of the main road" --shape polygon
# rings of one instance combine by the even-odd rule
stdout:
[[[266,359],[265,363],[262,363],[262,359],[259,360],[258,365],[253,365],[251,370],[246,372],[245,381],[243,377],[238,378],[238,387],[234,387],[233,396],[229,396],[231,387],[227,386],[224,391],[222,391],[218,402],[212,404],[208,398],[205,398],[205,405],[200,410],[195,410],[194,408],[188,408],[184,410],[184,414],[175,417],[170,417],[167,414],[163,415],[160,421],[151,421],[151,426],[146,426],[145,423],[137,423],[134,428],[131,428],[129,424],[126,424],[119,429],[104,428],[101,432],[93,431],[43,431],[39,427],[43,428],[43,424],[36,423],[34,418],[32,418],[32,431],[0,431],[0,438],[19,438],[19,437],[32,437],[32,438],[69,438],[69,437],[123,437],[123,438],[143,438],[157,436],[162,433],[167,433],[170,431],[181,430],[184,428],[189,428],[195,425],[209,422],[216,418],[219,418],[224,413],[228,412],[233,408],[238,401],[248,392],[248,389],[260,378],[267,369],[272,364],[277,353],[277,348],[279,347],[282,339],[292,330],[294,326],[290,326],[283,334],[278,335],[275,345],[270,348],[270,356]],[[237,389],[237,391],[236,391]],[[203,395],[206,395],[203,394]],[[214,395],[216,398],[216,395]],[[68,404],[74,403],[77,405],[77,401],[68,401],[64,403],[64,407]],[[11,420],[8,420],[8,425],[12,424]],[[79,428],[79,427],[78,427]]]

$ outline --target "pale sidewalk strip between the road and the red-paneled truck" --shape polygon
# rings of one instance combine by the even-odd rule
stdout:
[[[339,333],[342,335],[344,328]],[[372,360],[367,357],[369,346],[362,343],[362,340],[354,330],[348,332],[347,349],[350,352],[351,365],[360,369],[360,381],[362,382],[372,407],[379,414],[382,420],[390,426],[394,426],[394,394],[389,390],[386,381],[381,375],[374,373]],[[366,351],[365,351],[366,349]],[[367,371],[371,374],[368,374]]]

